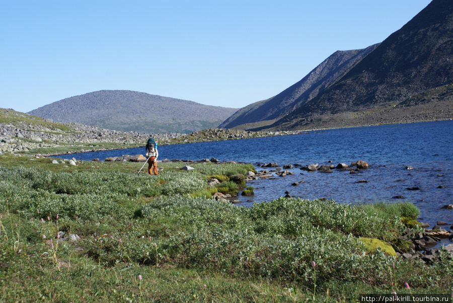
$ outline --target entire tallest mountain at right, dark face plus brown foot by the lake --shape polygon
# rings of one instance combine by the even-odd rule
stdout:
[[[358,123],[379,124],[452,118],[453,96],[445,95],[453,84],[452,33],[453,1],[433,0],[325,91],[267,128],[338,126],[326,119],[354,125],[345,113],[366,113]],[[393,109],[395,116],[382,114]]]

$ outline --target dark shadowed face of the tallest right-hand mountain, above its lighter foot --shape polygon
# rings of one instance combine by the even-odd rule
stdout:
[[[270,128],[300,128],[315,116],[399,104],[451,83],[453,1],[433,0],[338,82]]]

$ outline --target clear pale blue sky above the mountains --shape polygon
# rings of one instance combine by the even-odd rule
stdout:
[[[382,42],[429,3],[0,0],[0,107],[131,90],[241,108],[337,50]]]

